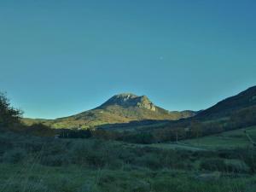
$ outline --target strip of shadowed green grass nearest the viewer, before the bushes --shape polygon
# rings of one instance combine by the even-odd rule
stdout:
[[[1,164],[0,191],[204,191],[253,192],[256,177],[200,178],[198,172],[148,169],[90,170],[79,166],[49,167]]]

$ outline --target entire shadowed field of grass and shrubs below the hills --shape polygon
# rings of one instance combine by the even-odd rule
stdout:
[[[3,132],[0,192],[254,192],[256,151],[241,132],[153,145]]]

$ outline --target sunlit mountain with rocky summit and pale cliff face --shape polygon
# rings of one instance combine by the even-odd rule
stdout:
[[[169,112],[157,107],[147,96],[136,96],[131,93],[123,93],[108,99],[98,108],[75,114],[73,116],[55,119],[24,119],[29,125],[35,122],[43,123],[54,128],[93,128],[100,125],[128,123],[131,121],[153,120],[177,120],[189,118],[196,113],[193,111]]]

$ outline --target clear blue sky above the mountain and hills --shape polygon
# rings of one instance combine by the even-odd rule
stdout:
[[[256,85],[254,0],[1,0],[0,90],[26,117],[121,92],[208,108]]]

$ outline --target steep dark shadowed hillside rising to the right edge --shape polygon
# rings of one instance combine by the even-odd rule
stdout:
[[[202,110],[195,116],[168,121],[165,125],[151,125],[152,129],[180,128],[189,130],[197,126],[204,135],[216,134],[256,125],[256,86],[242,91],[236,96],[230,96],[211,108]],[[148,130],[145,127],[145,130]]]

